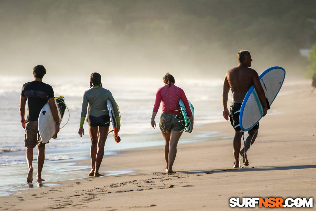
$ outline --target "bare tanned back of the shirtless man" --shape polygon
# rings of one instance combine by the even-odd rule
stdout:
[[[258,74],[254,69],[238,66],[228,70],[226,77],[232,90],[232,102],[242,103],[247,91],[253,84],[253,77]]]

